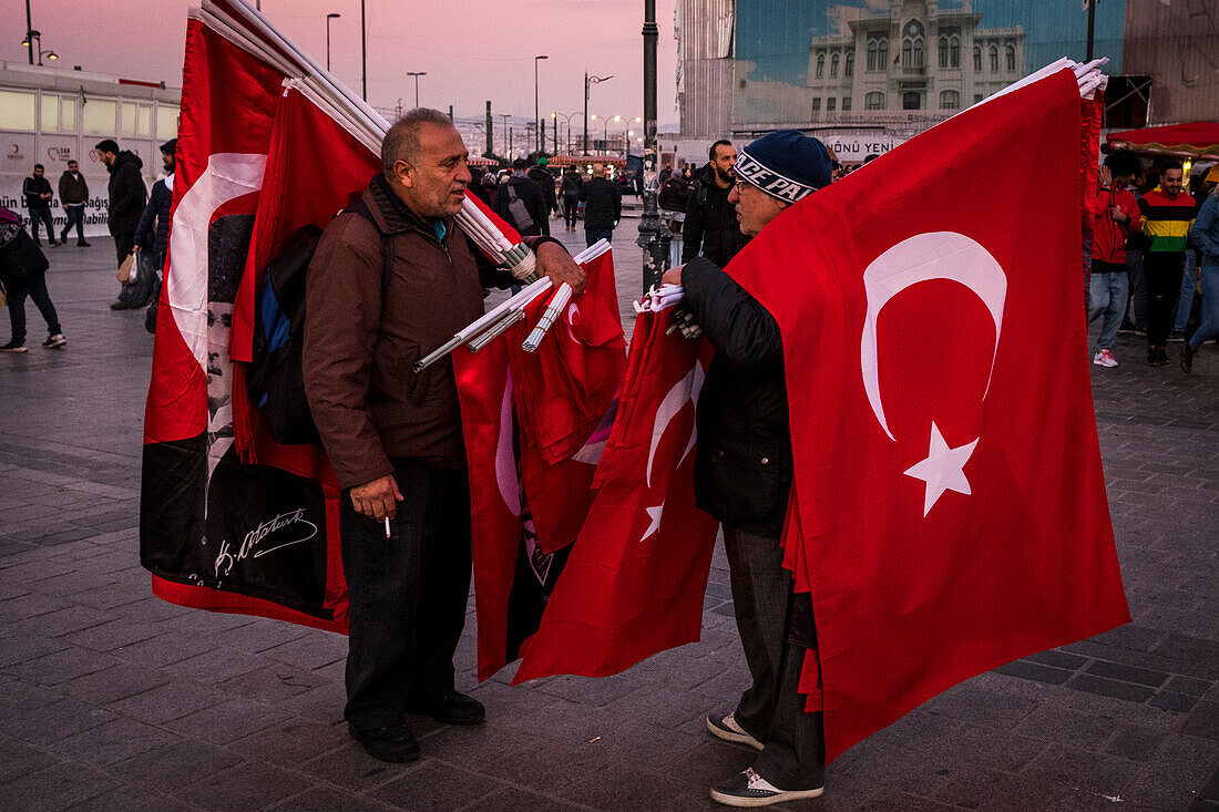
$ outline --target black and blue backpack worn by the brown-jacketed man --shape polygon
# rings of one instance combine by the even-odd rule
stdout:
[[[377,221],[357,199],[344,212]],[[382,285],[393,262],[393,238],[382,233]],[[322,239],[317,226],[304,226],[279,256],[267,263],[255,305],[254,354],[246,365],[246,391],[280,445],[308,445],[321,436],[305,396],[305,278]]]

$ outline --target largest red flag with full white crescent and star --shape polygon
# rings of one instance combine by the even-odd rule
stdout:
[[[803,683],[829,758],[1130,619],[1086,363],[1080,109],[1070,69],[969,109],[727,268],[783,333],[785,551],[812,595]]]

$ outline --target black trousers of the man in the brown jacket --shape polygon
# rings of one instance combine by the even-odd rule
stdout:
[[[340,495],[347,580],[347,706],[358,730],[402,723],[407,697],[453,688],[453,651],[469,597],[469,484],[466,471],[393,460],[402,491],[385,523],[356,513]]]

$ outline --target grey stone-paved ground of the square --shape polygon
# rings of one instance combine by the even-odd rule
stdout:
[[[627,221],[616,240],[624,305],[634,237]],[[341,636],[150,595],[137,524],[152,340],[143,313],[106,308],[110,240],[49,254],[69,344],[40,349],[27,305],[30,351],[0,356],[0,807],[701,810],[750,763],[703,730],[746,684],[722,551],[702,641],[613,678],[475,685],[472,612],[458,685],[486,724],[413,719],[421,761],[366,756],[340,721]],[[1142,365],[1141,340],[1092,367],[1134,623],[947,691],[791,808],[1219,810],[1219,352],[1186,377]]]

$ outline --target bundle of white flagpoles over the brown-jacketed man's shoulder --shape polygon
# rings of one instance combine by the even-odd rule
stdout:
[[[279,33],[246,0],[228,0],[226,5],[232,7],[241,21],[234,20],[215,2],[204,2],[197,15],[210,28],[238,48],[282,71],[288,77],[285,84],[299,89],[364,146],[374,154],[380,154],[382,140],[390,128],[390,123],[385,121],[384,116]],[[251,38],[246,33],[247,27],[266,37],[274,48],[267,48],[265,43]],[[536,260],[533,251],[523,243],[513,244],[508,240],[491,219],[471,201],[469,193],[467,193],[456,219],[462,230],[496,265],[508,268],[512,276],[522,282],[531,283],[538,279]]]

